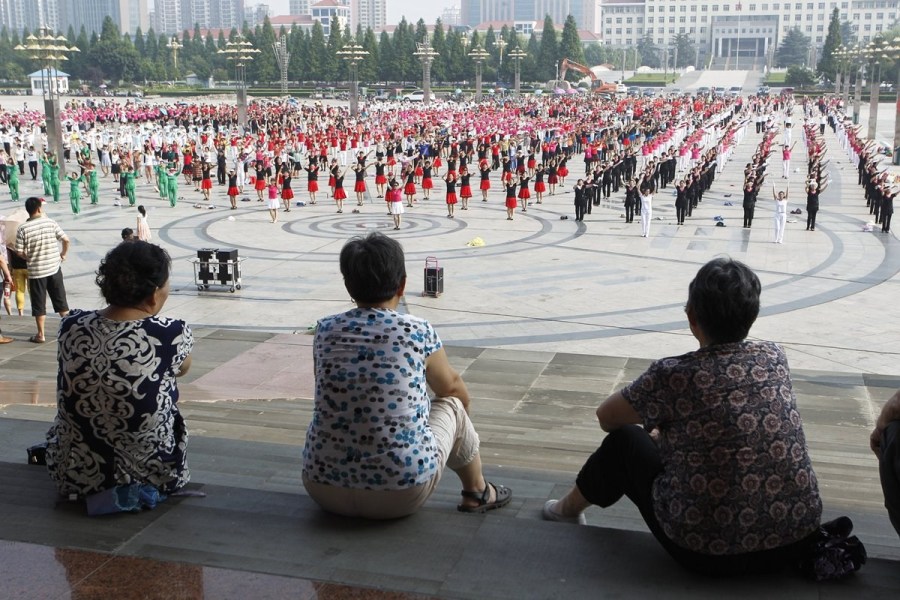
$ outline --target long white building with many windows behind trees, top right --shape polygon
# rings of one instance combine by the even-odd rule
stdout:
[[[900,19],[900,0],[602,0],[599,34],[604,44],[622,48],[647,35],[666,48],[685,34],[694,41],[702,65],[737,59],[747,68],[761,68],[795,27],[820,48],[835,8],[862,43]]]

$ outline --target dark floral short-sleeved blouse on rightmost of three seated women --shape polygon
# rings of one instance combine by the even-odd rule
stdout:
[[[740,554],[818,527],[822,501],[780,346],[744,341],[664,358],[622,395],[648,430],[659,428],[653,503],[676,544]]]

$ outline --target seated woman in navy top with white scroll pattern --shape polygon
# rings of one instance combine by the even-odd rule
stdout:
[[[90,504],[90,496],[119,486],[165,494],[190,479],[175,378],[190,368],[193,337],[184,321],[159,316],[170,266],[159,246],[122,242],[97,270],[108,306],[62,320],[46,453],[62,494]]]

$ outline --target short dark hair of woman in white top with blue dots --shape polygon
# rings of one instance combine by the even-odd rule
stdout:
[[[344,244],[340,262],[344,286],[357,304],[390,300],[406,279],[403,247],[378,232]]]

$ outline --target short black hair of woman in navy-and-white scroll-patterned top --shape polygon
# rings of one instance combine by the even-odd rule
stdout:
[[[100,261],[95,281],[113,306],[137,306],[166,284],[172,260],[169,253],[141,240],[122,242]]]

